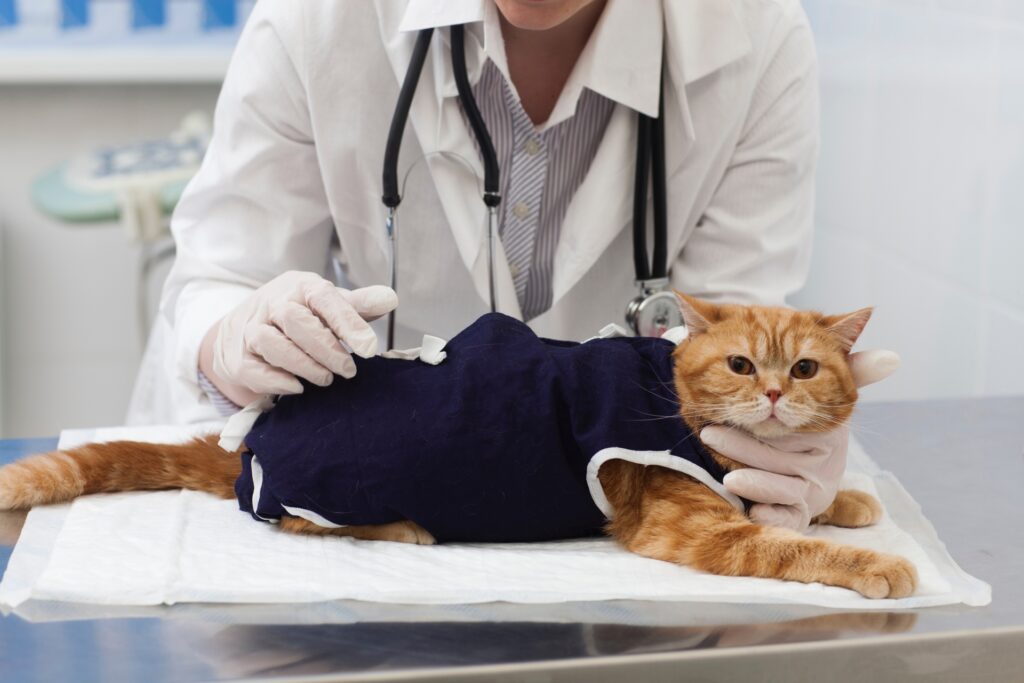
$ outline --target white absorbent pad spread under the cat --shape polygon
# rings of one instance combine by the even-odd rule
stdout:
[[[188,435],[154,428],[66,432],[61,446]],[[633,555],[607,539],[412,546],[293,536],[254,521],[234,501],[161,492],[90,496],[33,510],[0,584],[0,604],[14,607],[29,599],[102,605],[643,600],[864,610],[991,600],[988,585],[956,565],[899,481],[856,443],[844,487],[878,497],[886,509],[882,521],[861,529],[813,527],[809,533],[902,555],[920,574],[913,596],[868,600],[819,584],[716,577]]]

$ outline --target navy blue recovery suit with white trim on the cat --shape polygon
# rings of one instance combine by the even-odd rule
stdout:
[[[411,519],[441,542],[599,533],[587,468],[605,447],[669,451],[724,476],[678,416],[674,348],[541,339],[492,313],[438,366],[357,358],[353,379],[307,385],[260,416],[240,507],[264,520],[290,510],[337,525]]]

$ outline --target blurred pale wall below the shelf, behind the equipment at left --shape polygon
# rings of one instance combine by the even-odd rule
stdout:
[[[211,85],[0,85],[2,435],[120,424],[140,349],[137,250],[115,225],[68,225],[32,206],[32,181],[102,142],[160,137]]]

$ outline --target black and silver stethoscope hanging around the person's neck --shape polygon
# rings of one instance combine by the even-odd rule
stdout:
[[[498,230],[498,208],[502,203],[499,184],[498,154],[487,131],[479,106],[473,96],[466,72],[465,27],[451,27],[452,71],[463,111],[473,129],[473,135],[483,158],[483,204],[487,208],[487,278],[490,289],[490,310],[496,311],[495,241]],[[434,30],[423,29],[416,38],[413,56],[398,92],[398,101],[391,117],[387,146],[384,150],[384,193],[387,207],[384,227],[391,246],[391,289],[398,288],[398,222],[401,204],[398,190],[398,152],[409,121],[416,86],[427,58]],[[654,253],[647,259],[647,188],[651,183],[654,199]],[[633,185],[633,265],[639,295],[626,308],[626,322],[634,333],[643,337],[659,337],[671,328],[681,327],[683,316],[676,295],[669,291],[668,273],[668,208],[665,172],[665,98],[660,97],[657,118],[637,113],[637,161]],[[394,311],[388,315],[388,348],[394,347]]]

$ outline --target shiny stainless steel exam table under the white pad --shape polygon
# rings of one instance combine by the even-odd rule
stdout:
[[[14,614],[0,618],[0,681],[1024,681],[1024,397],[867,403],[854,424],[953,558],[991,584],[989,606],[800,608],[778,621],[770,606],[681,603],[671,627],[540,623],[528,607],[495,623],[414,622],[410,607],[382,623],[296,625],[310,605]],[[0,441],[0,463],[54,443]],[[0,570],[23,521],[0,513]]]

